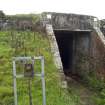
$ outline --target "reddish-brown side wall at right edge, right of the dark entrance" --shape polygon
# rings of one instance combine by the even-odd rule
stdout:
[[[101,31],[93,31],[91,35],[90,73],[94,72],[98,79],[105,79],[105,37]]]

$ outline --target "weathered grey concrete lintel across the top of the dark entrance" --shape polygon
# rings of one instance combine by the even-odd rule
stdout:
[[[68,30],[90,30],[93,29],[94,18],[87,15],[64,14],[64,13],[43,13],[44,16],[51,15],[49,21],[54,29]],[[44,17],[45,19],[46,17]]]

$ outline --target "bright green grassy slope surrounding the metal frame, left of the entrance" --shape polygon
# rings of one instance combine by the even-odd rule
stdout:
[[[81,87],[80,84],[77,85],[71,83],[69,91],[67,89],[60,88],[59,73],[53,63],[50,43],[46,35],[30,31],[0,32],[0,105],[14,105],[12,57],[39,55],[43,55],[45,58],[47,105],[89,105],[83,103],[84,100],[82,100],[83,98],[81,98],[81,94],[82,92],[86,92],[84,92],[85,88]],[[36,64],[35,70],[40,70],[39,62]],[[20,72],[21,67],[19,67],[19,63],[17,63],[17,65],[18,72]],[[42,105],[42,88],[40,78],[35,77],[31,84],[33,105]],[[18,105],[29,105],[28,79],[18,79],[17,88]],[[89,97],[91,96],[91,100],[92,97],[98,98],[93,94],[88,95]],[[85,101],[87,102],[88,100]]]

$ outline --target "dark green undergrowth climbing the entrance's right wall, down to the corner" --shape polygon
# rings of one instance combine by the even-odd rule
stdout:
[[[105,78],[103,76],[98,77],[96,69],[93,68],[99,68],[100,63],[104,62],[104,60],[102,59],[102,62],[100,62],[99,59],[83,55],[82,53],[79,56],[81,59],[76,69],[79,71],[80,82],[95,94],[91,97],[95,105],[105,105]],[[92,66],[89,71],[84,70],[84,67],[82,68],[87,61]],[[97,65],[94,65],[94,61],[97,62]]]

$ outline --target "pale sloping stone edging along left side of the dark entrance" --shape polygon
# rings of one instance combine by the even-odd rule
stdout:
[[[53,32],[53,28],[51,24],[46,24],[46,31],[47,31],[47,35],[50,41],[50,45],[51,45],[51,51],[52,54],[54,56],[54,63],[57,67],[57,69],[59,70],[59,74],[60,74],[60,86],[62,88],[67,88],[67,82],[65,81],[65,75],[63,73],[63,66],[62,66],[62,61],[61,61],[61,57],[60,57],[60,52],[58,50],[58,44]]]

